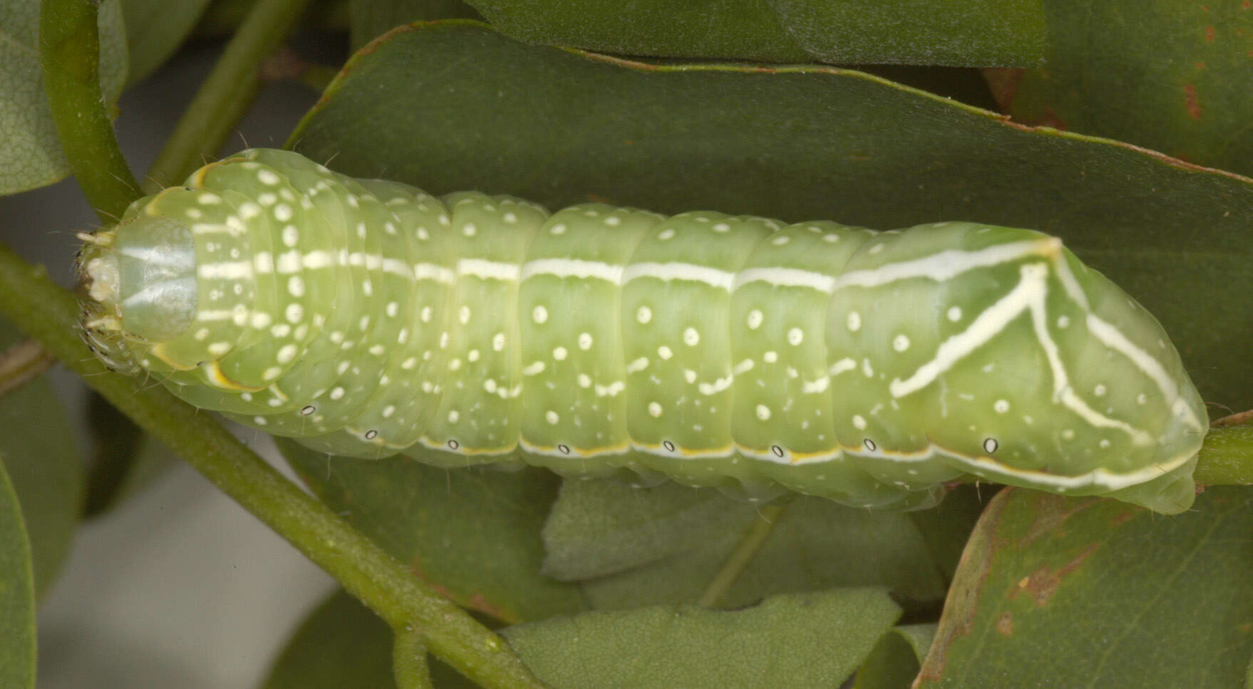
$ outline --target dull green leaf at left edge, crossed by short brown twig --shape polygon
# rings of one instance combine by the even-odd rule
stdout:
[[[0,351],[21,337],[0,321]],[[84,465],[76,438],[46,377],[0,396],[0,457],[26,521],[38,596],[60,571],[83,511]]]

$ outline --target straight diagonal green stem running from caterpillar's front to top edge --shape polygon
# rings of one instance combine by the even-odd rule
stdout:
[[[287,38],[308,0],[258,0],[195,93],[148,172],[149,192],[182,182],[214,158],[261,88],[261,65]]]

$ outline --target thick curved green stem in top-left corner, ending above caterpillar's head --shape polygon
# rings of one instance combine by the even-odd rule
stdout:
[[[88,202],[112,223],[139,198],[139,183],[113,135],[100,90],[96,6],[94,0],[43,0],[39,54],[61,149]]]

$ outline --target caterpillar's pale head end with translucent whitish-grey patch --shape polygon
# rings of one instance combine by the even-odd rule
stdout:
[[[195,316],[192,229],[175,218],[138,214],[81,238],[84,339],[109,368],[134,373],[140,365],[132,344],[172,339]]]

